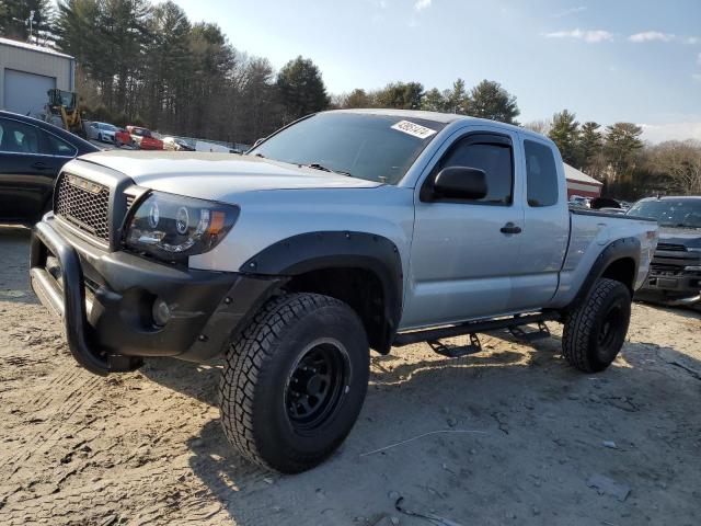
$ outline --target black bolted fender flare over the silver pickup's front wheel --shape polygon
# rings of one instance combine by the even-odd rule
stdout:
[[[404,274],[397,245],[367,232],[317,231],[283,239],[241,265],[248,274],[296,276],[322,268],[361,268],[382,284],[387,350],[402,316]]]

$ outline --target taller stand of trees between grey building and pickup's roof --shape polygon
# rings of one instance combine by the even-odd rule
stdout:
[[[80,64],[87,106],[117,124],[251,142],[329,105],[311,60],[299,57],[276,75],[267,59],[237,50],[216,24],[191,23],[171,1],[62,0],[55,34]]]

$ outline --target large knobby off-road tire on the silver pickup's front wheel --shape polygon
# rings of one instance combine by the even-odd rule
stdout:
[[[345,384],[335,395],[340,397],[336,409],[329,410],[325,420],[320,416],[317,428],[300,431],[296,426],[301,424],[294,420],[297,415],[290,416],[294,404],[288,401],[299,395],[290,395],[296,381],[290,375],[300,370],[304,350],[317,348],[313,345],[336,346],[338,356],[347,357],[348,375],[343,381],[327,382]],[[318,294],[274,298],[231,342],[226,355],[219,384],[223,431],[249,460],[284,473],[304,471],[326,459],[350,432],[368,377],[367,334],[350,307]]]

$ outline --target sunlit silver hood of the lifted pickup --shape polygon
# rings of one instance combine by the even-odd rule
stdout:
[[[261,190],[372,188],[381,183],[235,153],[112,150],[82,161],[128,175],[139,186],[208,199]]]

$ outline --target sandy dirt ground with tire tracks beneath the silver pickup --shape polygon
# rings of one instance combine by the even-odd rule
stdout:
[[[374,355],[341,450],[281,477],[227,446],[218,366],[79,368],[30,291],[27,252],[27,230],[0,228],[2,525],[701,524],[698,313],[635,305],[598,375],[565,364],[555,323],[462,358]]]

